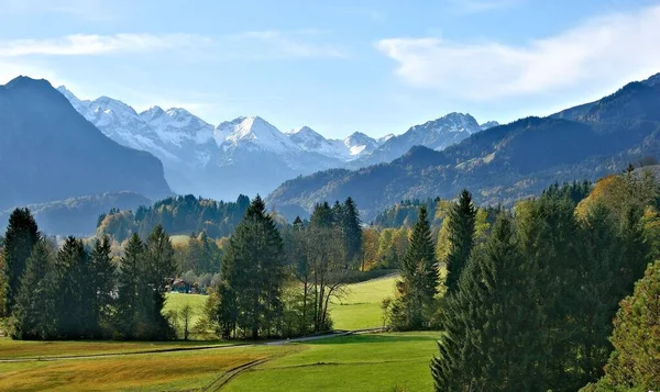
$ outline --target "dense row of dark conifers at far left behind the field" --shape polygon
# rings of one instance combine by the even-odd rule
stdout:
[[[129,240],[119,267],[110,239],[91,248],[68,237],[61,248],[44,237],[28,209],[9,219],[2,251],[2,312],[15,339],[167,339],[163,315],[175,273],[169,237],[157,225]]]

